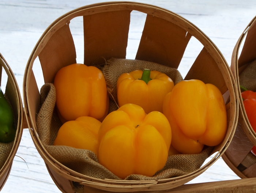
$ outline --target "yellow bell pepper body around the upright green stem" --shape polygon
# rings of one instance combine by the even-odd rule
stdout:
[[[148,78],[142,80],[143,71],[135,70],[122,74],[117,80],[117,101],[122,106],[132,103],[141,106],[148,114],[151,111],[162,113],[163,99],[172,91],[171,78],[159,71],[149,71]]]

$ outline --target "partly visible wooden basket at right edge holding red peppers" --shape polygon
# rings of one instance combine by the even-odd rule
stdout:
[[[256,59],[255,24],[256,17],[252,19],[238,39],[230,66],[238,87],[239,118],[234,138],[222,157],[226,164],[241,178],[256,177],[256,156],[251,153],[252,147],[256,145],[256,133],[249,123],[239,88],[239,75],[250,62]]]

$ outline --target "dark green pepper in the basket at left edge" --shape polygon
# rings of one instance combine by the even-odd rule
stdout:
[[[13,141],[15,134],[14,114],[0,88],[0,142],[9,143]]]

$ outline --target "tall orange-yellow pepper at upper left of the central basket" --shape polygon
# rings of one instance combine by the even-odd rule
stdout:
[[[71,64],[61,68],[55,78],[56,105],[66,121],[90,116],[102,121],[109,108],[106,81],[94,66]]]

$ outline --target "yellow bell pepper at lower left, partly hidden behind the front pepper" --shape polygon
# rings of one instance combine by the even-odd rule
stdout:
[[[88,149],[98,156],[98,130],[101,122],[93,117],[79,117],[65,122],[59,129],[53,145]]]

